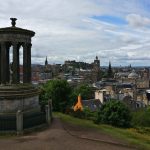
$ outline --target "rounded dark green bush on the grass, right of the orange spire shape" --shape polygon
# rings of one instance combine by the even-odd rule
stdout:
[[[95,122],[106,123],[117,127],[129,127],[131,113],[128,107],[118,100],[111,100],[102,105]]]

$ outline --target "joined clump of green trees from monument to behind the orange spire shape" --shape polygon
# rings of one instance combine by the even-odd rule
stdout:
[[[65,80],[51,80],[40,87],[40,104],[42,108],[52,99],[54,111],[65,111],[77,101],[78,95],[81,94],[82,99],[91,98],[92,88],[86,84],[79,85],[73,89]]]

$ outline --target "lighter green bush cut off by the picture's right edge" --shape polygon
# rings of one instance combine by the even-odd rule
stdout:
[[[133,126],[150,127],[150,107],[132,113]]]

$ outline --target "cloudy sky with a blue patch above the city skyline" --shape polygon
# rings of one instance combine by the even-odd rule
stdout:
[[[150,66],[150,0],[0,0],[0,27],[36,32],[32,63]]]

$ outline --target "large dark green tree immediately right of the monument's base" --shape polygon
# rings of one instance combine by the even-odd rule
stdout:
[[[69,105],[71,88],[65,80],[50,80],[41,87],[40,103],[47,104],[52,99],[53,110],[64,112]]]

